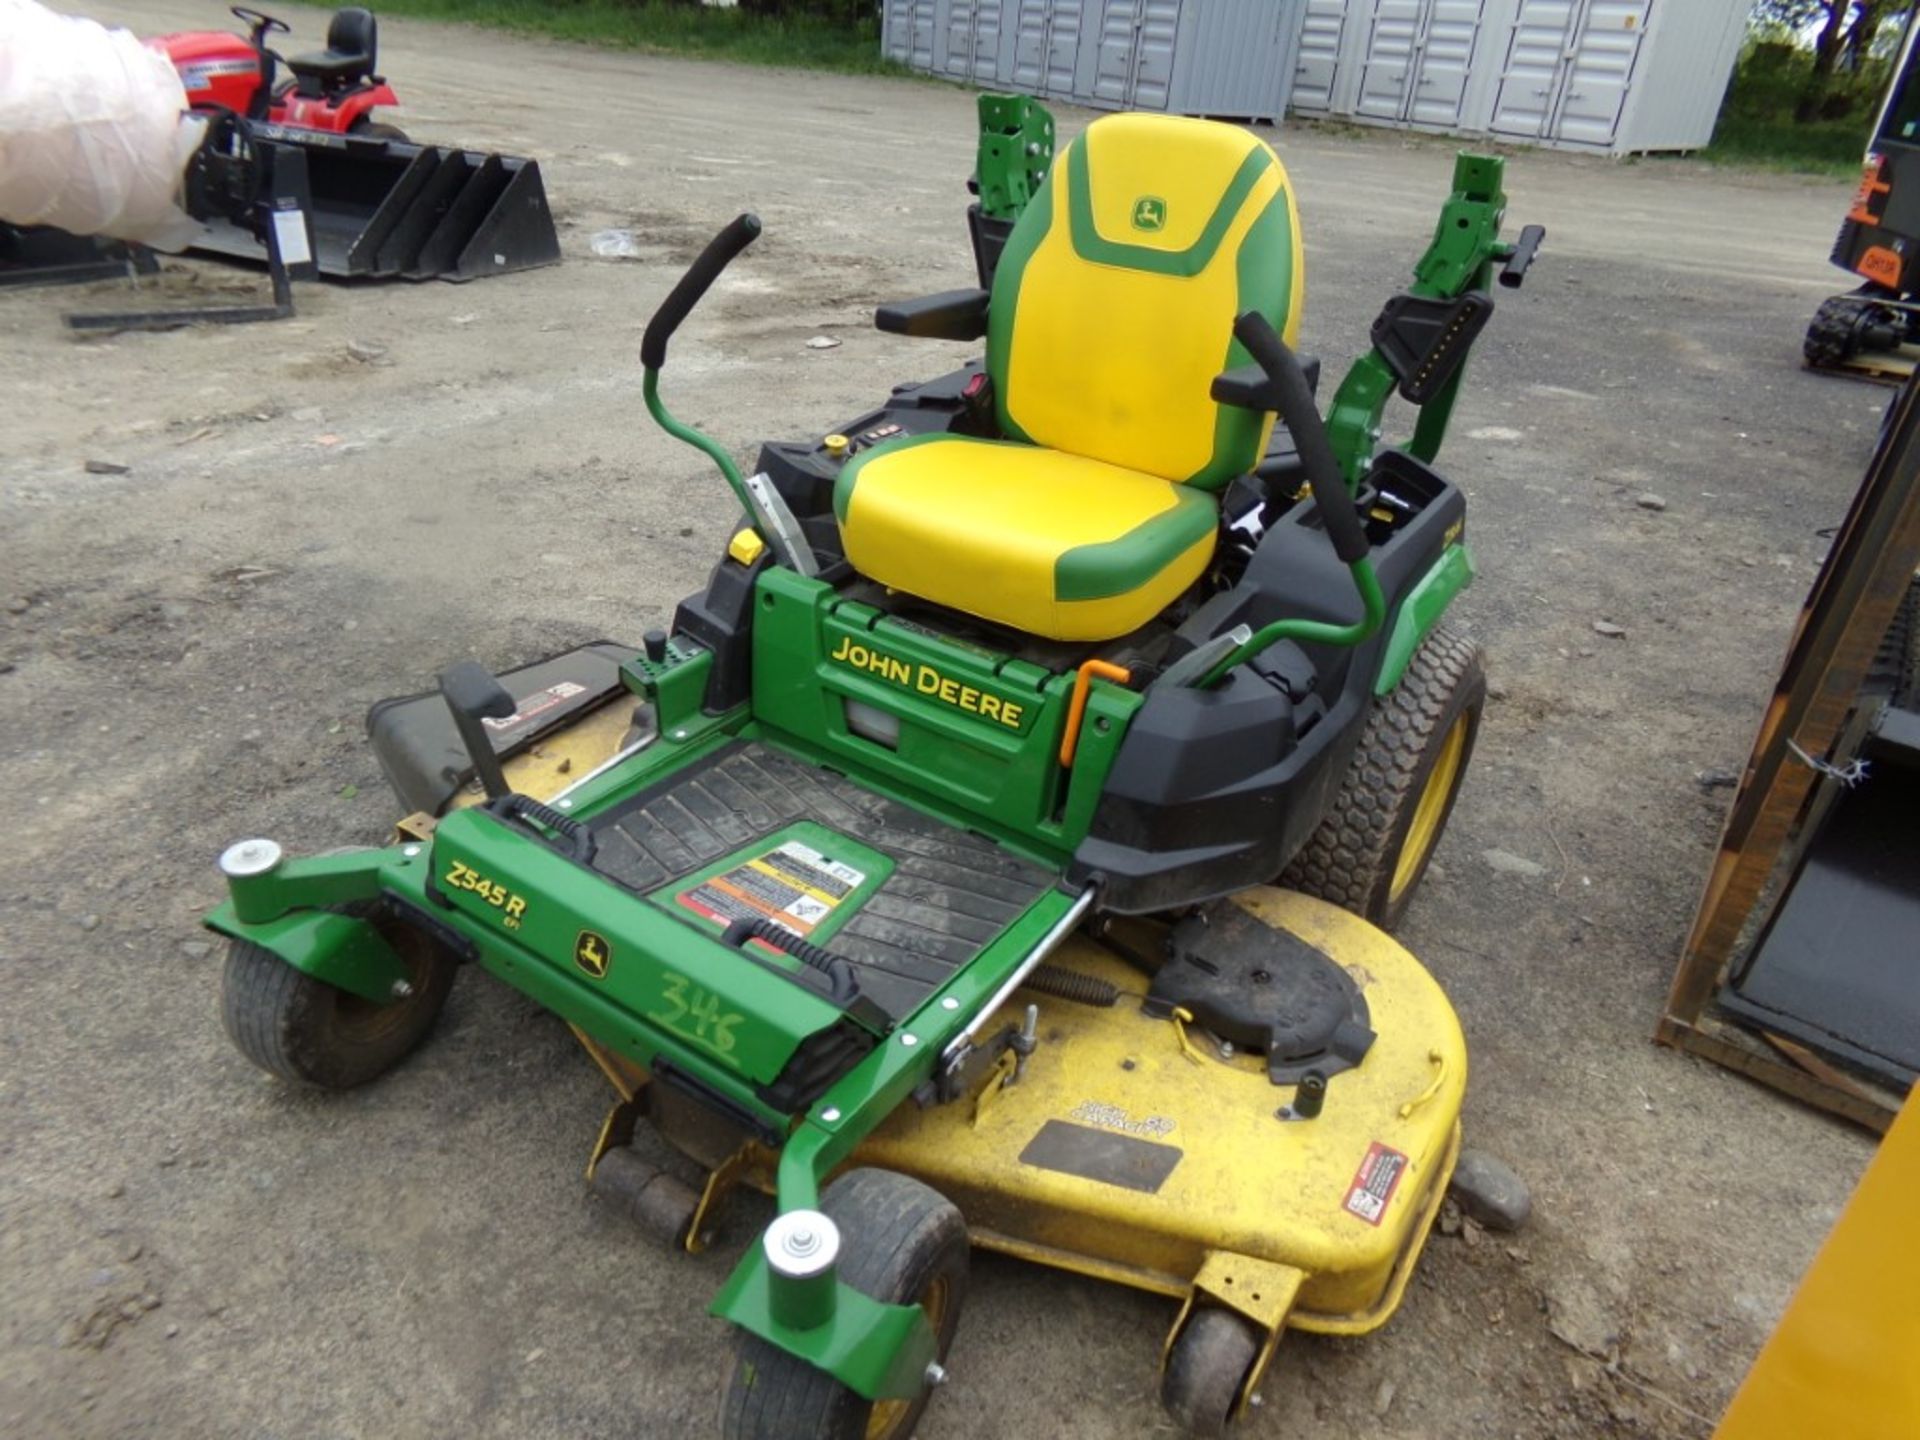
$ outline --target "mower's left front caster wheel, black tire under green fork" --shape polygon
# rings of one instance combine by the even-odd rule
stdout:
[[[411,993],[374,1004],[294,970],[252,941],[232,941],[221,979],[221,1018],[240,1054],[284,1081],[349,1091],[399,1064],[426,1039],[459,962],[411,925],[359,918],[394,947]]]

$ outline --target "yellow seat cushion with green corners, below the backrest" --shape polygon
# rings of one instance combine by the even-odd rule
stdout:
[[[906,436],[833,488],[870,580],[1048,639],[1139,630],[1213,555],[1213,497],[1041,445]]]

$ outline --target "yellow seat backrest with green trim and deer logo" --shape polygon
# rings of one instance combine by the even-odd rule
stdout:
[[[1300,326],[1286,169],[1238,125],[1106,115],[1054,161],[993,280],[987,372],[1006,434],[1217,490],[1273,417],[1219,405],[1233,321]]]

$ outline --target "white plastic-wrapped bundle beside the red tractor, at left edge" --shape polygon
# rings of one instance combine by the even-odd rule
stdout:
[[[204,129],[173,61],[129,31],[0,0],[0,221],[182,250]]]

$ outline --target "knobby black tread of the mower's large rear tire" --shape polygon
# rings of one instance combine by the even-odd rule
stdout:
[[[1319,828],[1281,876],[1286,889],[1371,920],[1369,899],[1382,874],[1392,876],[1388,845],[1394,820],[1413,803],[1413,780],[1448,701],[1482,682],[1480,647],[1448,626],[1434,626],[1392,693],[1375,701],[1354,762]],[[1382,900],[1384,904],[1384,900]]]

